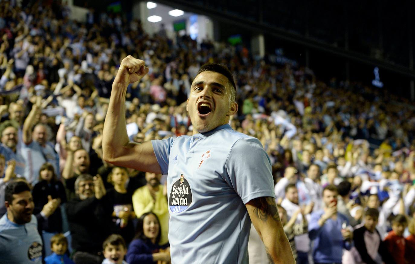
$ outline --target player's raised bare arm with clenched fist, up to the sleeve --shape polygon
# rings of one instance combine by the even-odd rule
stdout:
[[[131,73],[132,72],[132,73]],[[103,131],[103,158],[117,166],[161,173],[150,141],[129,142],[125,121],[125,94],[130,82],[139,81],[148,72],[144,62],[131,56],[122,60],[112,84],[110,104]]]

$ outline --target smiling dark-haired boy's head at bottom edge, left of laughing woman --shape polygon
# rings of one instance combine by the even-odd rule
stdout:
[[[125,240],[119,234],[112,234],[103,243],[104,261],[102,264],[128,264],[124,261],[127,254]]]

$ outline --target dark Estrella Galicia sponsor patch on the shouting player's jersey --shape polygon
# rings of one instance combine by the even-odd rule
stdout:
[[[192,190],[190,190],[190,185],[182,174],[180,175],[180,179],[176,180],[171,187],[168,205],[170,206],[171,212],[179,213],[186,210],[191,203]]]

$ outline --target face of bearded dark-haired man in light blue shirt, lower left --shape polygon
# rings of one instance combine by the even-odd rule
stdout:
[[[32,220],[34,202],[32,193],[29,191],[13,195],[11,203],[5,202],[7,214],[12,216],[12,221],[18,225],[24,225]]]

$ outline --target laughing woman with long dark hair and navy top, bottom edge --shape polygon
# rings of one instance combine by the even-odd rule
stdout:
[[[159,245],[161,229],[159,218],[153,212],[144,213],[137,222],[137,233],[130,243],[126,260],[129,264],[170,262],[170,247]]]

